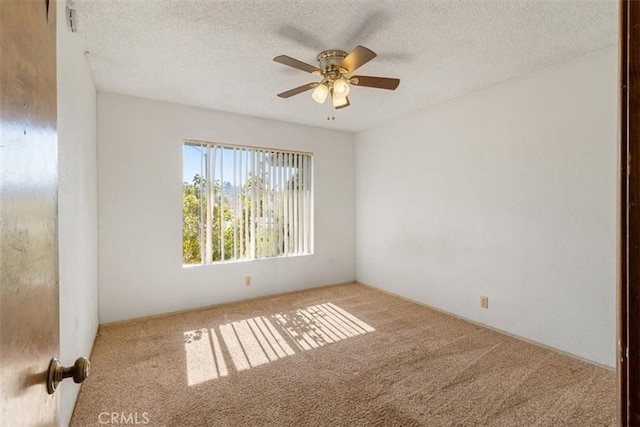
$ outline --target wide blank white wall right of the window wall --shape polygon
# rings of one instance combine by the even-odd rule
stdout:
[[[359,133],[357,280],[614,366],[616,88],[612,47]]]

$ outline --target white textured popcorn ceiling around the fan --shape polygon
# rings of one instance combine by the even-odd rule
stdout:
[[[616,0],[70,2],[98,90],[358,131],[617,42]],[[397,77],[352,89],[327,121],[318,81],[273,62],[312,65],[321,50],[378,54],[356,74]]]

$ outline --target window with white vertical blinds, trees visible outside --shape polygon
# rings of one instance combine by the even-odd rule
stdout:
[[[184,264],[313,251],[313,155],[187,141]]]

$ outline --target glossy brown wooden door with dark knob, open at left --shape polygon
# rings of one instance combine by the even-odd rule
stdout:
[[[0,425],[57,425],[56,4],[0,1]]]

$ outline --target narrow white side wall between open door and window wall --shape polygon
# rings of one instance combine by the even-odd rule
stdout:
[[[58,247],[60,361],[89,357],[98,330],[96,90],[77,34],[57,3]],[[64,381],[60,425],[69,425],[80,386]]]

